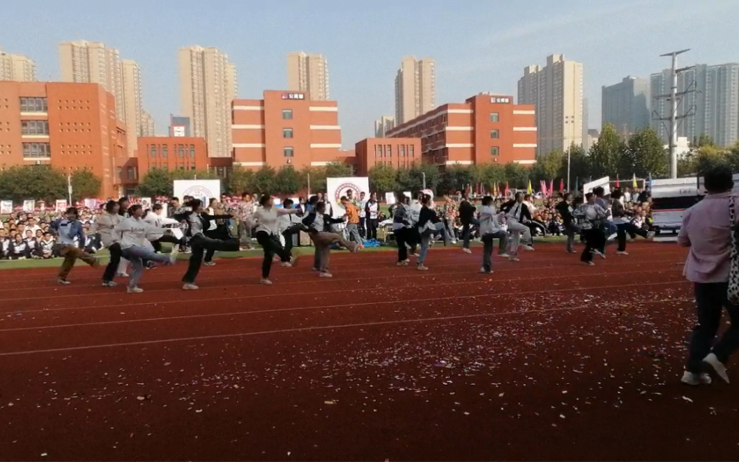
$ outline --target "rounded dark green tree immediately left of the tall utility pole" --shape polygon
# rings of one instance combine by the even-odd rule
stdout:
[[[629,138],[627,149],[621,157],[621,176],[654,177],[666,176],[670,163],[662,140],[652,127],[636,132]]]

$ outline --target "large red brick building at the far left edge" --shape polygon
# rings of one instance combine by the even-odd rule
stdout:
[[[101,197],[115,195],[115,158],[126,157],[126,126],[98,84],[0,81],[0,168],[90,169]]]

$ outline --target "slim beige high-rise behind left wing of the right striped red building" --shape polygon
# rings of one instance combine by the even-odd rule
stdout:
[[[398,125],[436,107],[435,61],[406,56],[395,76],[395,123]]]

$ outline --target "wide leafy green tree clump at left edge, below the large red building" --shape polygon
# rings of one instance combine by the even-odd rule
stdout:
[[[0,199],[53,203],[67,198],[67,177],[49,166],[12,166],[0,171]]]

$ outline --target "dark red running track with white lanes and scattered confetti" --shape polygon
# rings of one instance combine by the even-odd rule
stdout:
[[[585,267],[432,249],[430,271],[336,254],[333,279],[259,259],[0,272],[0,460],[730,460],[739,394],[679,384],[684,249]],[[739,376],[732,375],[734,381]]]

